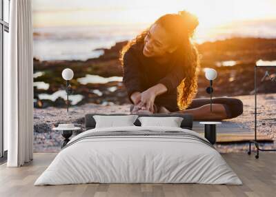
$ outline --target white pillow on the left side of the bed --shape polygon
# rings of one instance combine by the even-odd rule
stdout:
[[[137,115],[93,116],[93,118],[96,121],[95,128],[135,126],[133,123],[135,123],[137,117]]]

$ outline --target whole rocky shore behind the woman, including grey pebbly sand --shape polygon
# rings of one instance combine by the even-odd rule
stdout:
[[[128,113],[126,90],[121,83],[123,70],[119,63],[119,50],[126,42],[117,43],[97,59],[87,61],[39,61],[34,59],[34,152],[58,152],[62,137],[52,132],[59,123],[75,123],[83,127],[88,113]],[[257,61],[276,60],[276,39],[234,38],[197,45],[201,59],[198,92],[195,98],[208,97],[208,81],[204,68],[215,68],[215,96],[233,96],[244,102],[244,114],[231,119],[253,129],[254,66]],[[102,50],[102,49],[101,49]],[[72,94],[70,114],[66,112],[65,81],[61,78],[64,68],[75,72],[70,81]],[[260,81],[266,70],[257,71]],[[276,69],[270,76],[276,76]],[[269,78],[258,86],[259,93],[275,93],[276,85]],[[260,109],[262,128],[259,132],[276,138],[275,94],[264,94]],[[273,98],[273,99],[270,99]],[[75,100],[74,100],[75,99]],[[271,117],[273,116],[273,117]],[[274,146],[269,145],[268,146]],[[240,152],[247,145],[217,145],[220,152]]]

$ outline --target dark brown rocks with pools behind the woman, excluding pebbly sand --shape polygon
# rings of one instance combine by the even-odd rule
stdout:
[[[87,61],[34,59],[34,74],[36,74],[34,83],[37,84],[34,87],[34,107],[66,106],[63,98],[66,94],[64,92],[66,82],[61,78],[64,68],[71,68],[75,72],[70,85],[72,95],[79,96],[79,99],[75,103],[71,101],[72,105],[129,103],[125,87],[119,79],[123,75],[119,63],[119,51],[125,44],[126,41],[117,43],[110,49],[103,49],[103,55]],[[218,72],[214,81],[217,96],[239,96],[253,94],[254,65],[257,61],[276,60],[276,39],[234,38],[202,43],[197,45],[197,48],[201,59],[201,72],[196,98],[208,96],[206,87],[209,82],[205,79],[204,68],[215,68]],[[258,70],[259,78],[264,74],[265,70]],[[117,77],[117,81],[110,79],[114,76]],[[276,92],[276,86],[269,81],[263,83],[258,91],[266,93],[268,90]]]

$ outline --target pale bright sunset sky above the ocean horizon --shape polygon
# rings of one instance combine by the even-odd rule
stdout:
[[[201,27],[276,19],[276,0],[33,0],[34,28],[149,24],[188,10]]]

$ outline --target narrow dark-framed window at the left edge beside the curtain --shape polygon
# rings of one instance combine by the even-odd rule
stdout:
[[[10,0],[0,0],[0,157],[6,156],[7,134],[3,129],[3,72],[8,63],[8,32],[10,21]],[[1,162],[1,160],[0,160]]]

